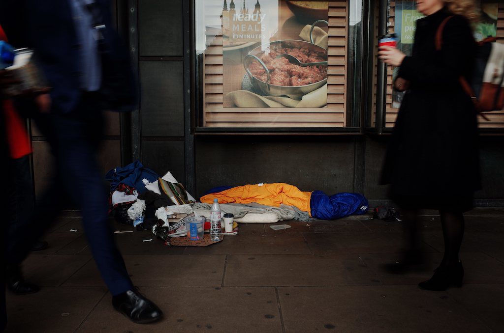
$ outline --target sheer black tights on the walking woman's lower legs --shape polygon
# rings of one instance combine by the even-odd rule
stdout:
[[[405,239],[409,251],[421,251],[421,233],[419,226],[418,210],[402,210]],[[439,210],[443,237],[445,239],[445,255],[441,265],[454,265],[459,262],[459,251],[464,237],[464,215],[459,212]]]

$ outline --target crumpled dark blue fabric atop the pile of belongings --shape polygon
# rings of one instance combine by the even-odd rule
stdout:
[[[109,170],[105,179],[110,182],[110,191],[114,191],[119,183],[137,189],[138,193],[146,192],[143,179],[147,179],[150,183],[154,183],[160,176],[149,168],[145,168],[140,161],[134,161],[123,168],[115,168]]]

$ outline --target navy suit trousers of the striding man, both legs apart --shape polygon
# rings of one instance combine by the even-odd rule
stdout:
[[[93,94],[67,114],[35,114],[37,127],[46,136],[55,162],[55,177],[23,234],[15,237],[9,261],[21,263],[31,245],[47,230],[70,197],[82,211],[82,224],[98,270],[112,295],[133,288],[108,223],[107,191],[97,160],[103,134],[103,114]]]

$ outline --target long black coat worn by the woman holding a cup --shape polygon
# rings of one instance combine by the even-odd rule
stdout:
[[[471,79],[476,42],[469,22],[452,17],[435,49],[443,9],[417,21],[412,55],[398,77],[410,81],[384,164],[382,183],[391,184],[402,206],[468,210],[480,188],[476,110],[459,84]]]

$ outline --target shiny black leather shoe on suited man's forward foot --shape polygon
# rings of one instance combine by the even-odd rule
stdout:
[[[156,321],[163,315],[156,304],[134,290],[113,296],[112,305],[117,311],[138,324]]]

